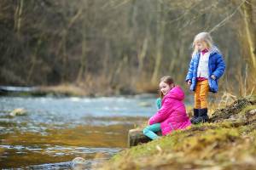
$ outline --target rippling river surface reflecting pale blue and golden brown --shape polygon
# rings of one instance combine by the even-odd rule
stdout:
[[[154,115],[153,95],[106,98],[0,97],[0,168],[87,169],[127,147],[128,130]],[[10,116],[23,108],[23,116]]]

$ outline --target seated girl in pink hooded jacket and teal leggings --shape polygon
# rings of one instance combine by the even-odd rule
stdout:
[[[159,138],[156,132],[161,131],[162,135],[166,135],[191,125],[183,104],[183,89],[175,86],[171,77],[160,79],[160,97],[160,110],[150,117],[148,127],[143,129],[144,135],[150,139]]]

